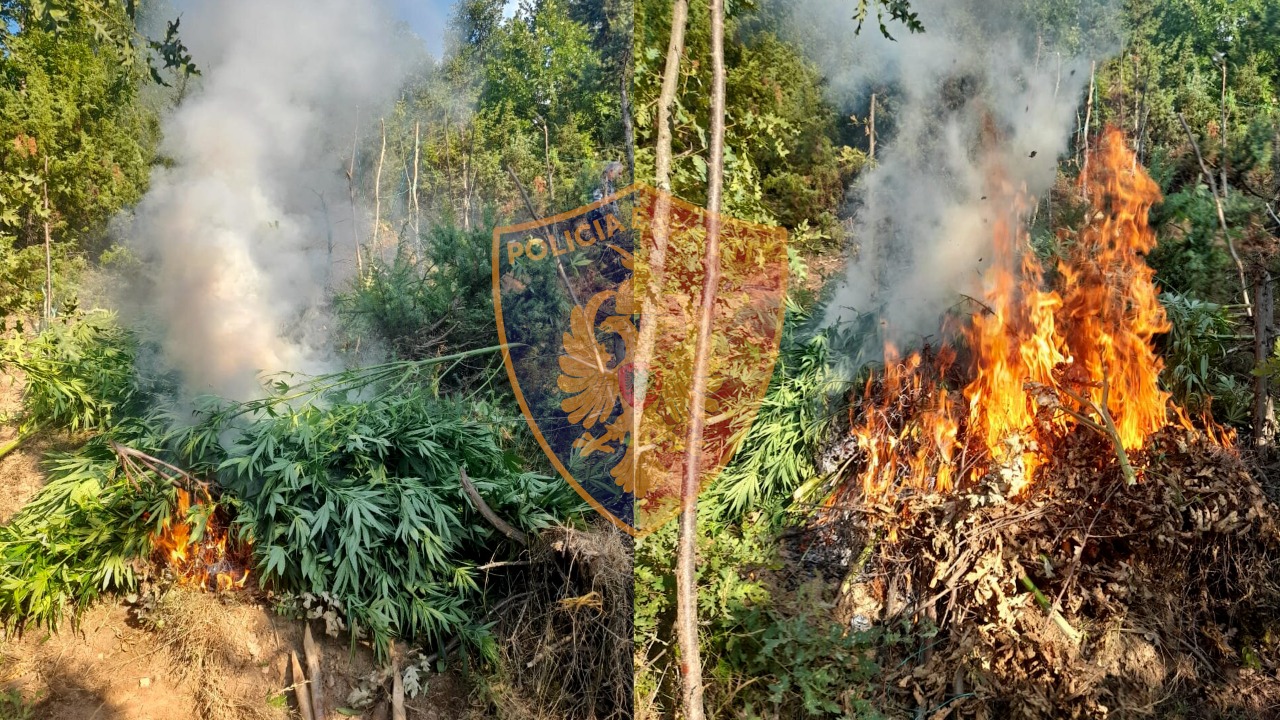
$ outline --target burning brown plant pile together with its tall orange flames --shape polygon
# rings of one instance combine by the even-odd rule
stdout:
[[[845,575],[855,628],[920,633],[886,651],[890,707],[1263,716],[1280,702],[1272,507],[1230,433],[1161,389],[1156,183],[1119,132],[1085,167],[1092,210],[1048,268],[989,173],[1007,213],[986,292],[954,345],[886,347],[808,557]]]

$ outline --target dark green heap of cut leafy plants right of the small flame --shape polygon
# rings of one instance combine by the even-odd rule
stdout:
[[[521,473],[489,428],[417,393],[284,410],[237,436],[220,468],[261,580],[329,592],[380,650],[476,630],[474,566],[513,551],[465,500],[461,466],[522,529],[571,505],[563,483]]]

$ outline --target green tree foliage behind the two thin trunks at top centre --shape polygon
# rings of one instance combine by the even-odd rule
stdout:
[[[669,5],[636,3],[635,120],[637,177],[653,174],[658,91],[666,58]],[[787,228],[809,223],[837,234],[845,187],[860,169],[852,150],[838,145],[836,113],[823,95],[823,78],[801,49],[781,40],[777,18],[753,4],[730,8],[724,47],[727,127],[726,211]],[[707,87],[710,69],[705,3],[691,3],[686,61],[673,109],[672,190],[700,202],[707,181]]]

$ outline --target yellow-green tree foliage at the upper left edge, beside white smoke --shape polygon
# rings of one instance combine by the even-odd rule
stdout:
[[[13,313],[42,297],[46,223],[55,291],[69,295],[74,259],[100,251],[108,219],[142,196],[157,124],[140,99],[143,76],[102,53],[87,20],[26,28],[4,46],[0,313]]]

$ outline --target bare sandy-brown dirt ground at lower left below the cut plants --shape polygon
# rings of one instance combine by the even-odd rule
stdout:
[[[0,378],[0,445],[14,437],[19,386]],[[46,452],[77,438],[36,436],[0,459],[0,523],[42,487]],[[91,609],[78,628],[0,634],[0,692],[17,689],[38,720],[275,720],[296,717],[287,688],[289,651],[303,657],[303,624],[278,615],[253,589],[210,593],[174,588],[147,623],[122,601]],[[351,652],[348,638],[312,632],[324,653],[329,717],[387,717],[383,698],[362,712],[339,712],[347,694],[374,670],[372,653]],[[445,720],[470,712],[454,674],[431,675],[426,692],[406,702],[408,717]],[[381,693],[385,697],[385,693]],[[3,715],[0,705],[0,715]],[[5,719],[8,720],[8,719]]]

